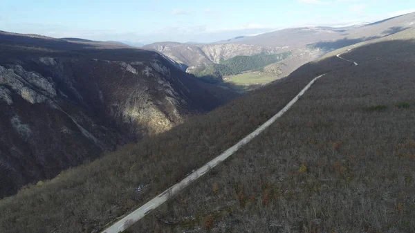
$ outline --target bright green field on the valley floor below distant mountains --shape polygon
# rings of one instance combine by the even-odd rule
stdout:
[[[255,84],[267,84],[273,82],[276,77],[265,75],[262,73],[242,73],[239,75],[230,75],[223,77],[225,82],[232,82],[237,85],[255,85]]]

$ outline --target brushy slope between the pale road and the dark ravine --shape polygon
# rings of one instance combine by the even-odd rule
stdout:
[[[192,118],[171,131],[124,146],[42,185],[30,186],[17,196],[4,198],[0,201],[0,231],[100,230],[232,146],[282,109],[315,75],[343,66],[349,63],[336,57],[307,64],[287,79]]]

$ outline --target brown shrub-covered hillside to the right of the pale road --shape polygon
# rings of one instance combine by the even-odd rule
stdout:
[[[129,232],[412,232],[408,32],[342,54],[359,65],[320,78],[266,133]]]

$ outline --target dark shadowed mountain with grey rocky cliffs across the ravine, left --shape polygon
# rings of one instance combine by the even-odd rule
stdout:
[[[236,96],[158,53],[0,33],[0,196]]]

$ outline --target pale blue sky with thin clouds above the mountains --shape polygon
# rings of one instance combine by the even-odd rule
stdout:
[[[412,0],[1,0],[0,30],[101,41],[213,42],[415,12]]]

